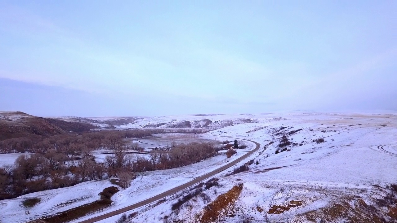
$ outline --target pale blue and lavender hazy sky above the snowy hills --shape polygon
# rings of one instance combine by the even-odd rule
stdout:
[[[397,110],[397,1],[0,0],[0,110]]]

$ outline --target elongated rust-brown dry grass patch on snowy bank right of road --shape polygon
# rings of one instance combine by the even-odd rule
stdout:
[[[204,214],[201,216],[200,222],[210,223],[216,221],[223,210],[230,204],[234,204],[242,190],[243,183],[233,186],[228,192],[219,195],[218,198],[204,208]]]

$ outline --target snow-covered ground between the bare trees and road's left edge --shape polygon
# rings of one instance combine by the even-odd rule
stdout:
[[[211,140],[213,136],[202,136],[202,140]],[[219,140],[226,140],[225,137],[218,137]],[[229,138],[230,140],[230,138]],[[137,179],[133,180],[131,186],[126,189],[121,189],[116,193],[112,200],[112,206],[104,212],[97,212],[86,217],[80,218],[73,222],[79,222],[83,219],[88,219],[101,215],[105,212],[110,212],[135,204],[157,194],[161,194],[167,190],[170,190],[178,185],[182,185],[198,177],[204,175],[214,169],[225,165],[225,163],[235,160],[247,153],[250,149],[254,148],[254,144],[249,143],[249,148],[244,150],[237,150],[237,154],[231,158],[226,158],[225,155],[216,155],[212,158],[194,163],[192,165],[160,170],[160,171],[147,171],[138,173]],[[108,154],[106,150],[96,150],[94,156],[97,159],[103,158]],[[103,157],[101,155],[104,155]],[[145,156],[148,154],[137,154],[138,156]],[[104,188],[112,185],[108,180],[103,181],[89,181],[81,183],[75,186],[60,188],[54,190],[46,190],[41,192],[35,192],[19,196],[15,199],[2,200],[0,201],[0,212],[3,214],[3,218],[0,216],[0,222],[26,222],[28,220],[38,219],[40,217],[52,215],[60,211],[69,210],[84,204],[88,204],[99,199],[98,193]],[[29,209],[30,214],[26,215],[26,208],[21,206],[21,202],[27,198],[41,198],[41,202]],[[51,206],[51,208],[49,208]],[[17,208],[16,208],[17,207]],[[10,211],[13,210],[13,211]],[[15,220],[16,219],[16,220]],[[111,222],[106,220],[105,222]]]

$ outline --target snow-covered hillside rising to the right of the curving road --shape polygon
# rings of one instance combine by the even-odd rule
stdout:
[[[229,207],[237,215],[224,217],[223,221],[241,222],[239,215],[243,211],[253,222],[264,222],[265,218],[272,222],[311,222],[305,217],[309,211],[329,207],[335,202],[347,201],[355,207],[361,199],[364,204],[376,206],[374,199],[380,198],[384,187],[397,183],[396,114],[287,113],[277,114],[280,118],[277,121],[264,121],[269,115],[275,114],[257,119],[262,121],[235,124],[207,133],[209,137],[252,139],[262,145],[274,141],[266,149],[241,161],[240,165],[254,158],[249,171],[228,177],[220,174],[218,177],[224,186],[216,188],[217,193],[214,189],[205,191],[212,201],[233,185],[244,183],[239,199]],[[286,128],[280,131],[280,127]],[[297,145],[287,146],[289,151],[275,154],[283,136],[276,134],[288,134],[298,129],[302,130],[287,137]],[[324,138],[325,142],[312,142],[318,138]],[[191,199],[176,214],[170,207],[177,198],[134,210],[139,214],[132,221],[160,223],[165,216],[170,216],[171,219],[193,222],[207,204],[200,198]],[[301,204],[281,214],[266,213],[273,205],[286,206],[294,201]],[[118,217],[101,222],[114,222]],[[320,215],[316,219],[319,222],[326,216]],[[326,222],[346,221],[339,218]]]

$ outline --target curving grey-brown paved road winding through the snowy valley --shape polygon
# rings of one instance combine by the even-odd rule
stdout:
[[[225,137],[225,136],[223,136],[223,137]],[[228,137],[228,138],[231,138],[231,137]],[[203,180],[205,180],[205,179],[207,179],[209,177],[212,177],[213,175],[216,175],[216,174],[224,171],[225,169],[228,169],[229,167],[235,165],[239,161],[244,160],[245,158],[251,156],[254,152],[256,152],[260,148],[260,144],[258,142],[254,142],[252,140],[243,139],[243,138],[237,138],[237,139],[253,142],[256,145],[256,147],[253,150],[250,150],[249,152],[247,152],[247,154],[241,156],[240,158],[237,158],[236,160],[233,160],[233,161],[227,163],[226,165],[224,165],[224,166],[222,166],[222,167],[220,167],[220,168],[218,168],[218,169],[216,169],[214,171],[211,171],[210,173],[206,173],[206,174],[204,174],[204,175],[202,175],[200,177],[196,177],[192,181],[189,181],[189,182],[187,182],[187,183],[185,183],[183,185],[179,185],[179,186],[177,186],[175,188],[167,190],[166,192],[163,192],[161,194],[158,194],[158,195],[156,195],[154,197],[148,198],[148,199],[143,200],[141,202],[138,202],[136,204],[127,206],[125,208],[120,208],[119,210],[111,211],[109,213],[105,213],[103,215],[99,215],[99,216],[96,216],[96,217],[93,217],[93,218],[90,218],[90,219],[87,219],[87,220],[84,220],[84,221],[80,221],[79,223],[94,223],[94,222],[97,222],[97,221],[101,221],[101,220],[106,219],[108,217],[112,217],[114,215],[118,215],[118,214],[124,213],[126,211],[131,211],[131,210],[133,210],[135,208],[140,208],[142,206],[145,206],[146,204],[150,204],[150,203],[152,203],[152,202],[154,202],[156,200],[160,200],[162,198],[165,198],[167,196],[175,194],[176,192],[179,192],[180,190],[186,189],[186,188],[188,188],[190,186],[193,186],[193,185],[195,185],[197,183],[200,183],[201,181],[203,181]]]

